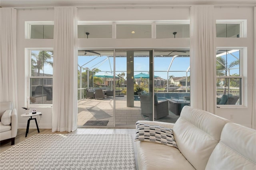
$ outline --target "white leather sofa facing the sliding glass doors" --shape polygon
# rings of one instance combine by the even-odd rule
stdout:
[[[184,106],[173,123],[138,121],[172,128],[178,149],[138,141],[139,170],[256,170],[256,130]]]

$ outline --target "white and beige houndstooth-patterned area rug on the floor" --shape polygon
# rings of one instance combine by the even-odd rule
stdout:
[[[130,134],[36,134],[0,154],[2,169],[135,170]]]

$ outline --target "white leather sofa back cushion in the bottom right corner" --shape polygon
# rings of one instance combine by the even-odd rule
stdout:
[[[236,123],[227,123],[221,133],[220,142],[214,148],[207,170],[255,170],[256,130]]]

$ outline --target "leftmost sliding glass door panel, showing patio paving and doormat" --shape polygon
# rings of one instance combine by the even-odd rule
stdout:
[[[113,68],[113,51],[78,51],[78,126],[114,126]]]

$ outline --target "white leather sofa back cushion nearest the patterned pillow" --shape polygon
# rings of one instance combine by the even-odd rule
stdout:
[[[195,169],[205,169],[210,154],[220,140],[227,119],[184,106],[173,127],[174,140]]]

